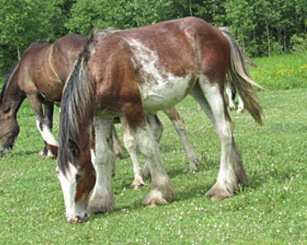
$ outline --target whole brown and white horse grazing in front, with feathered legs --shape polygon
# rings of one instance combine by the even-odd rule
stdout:
[[[221,144],[220,171],[207,197],[224,199],[239,183],[248,184],[224,99],[227,73],[246,109],[261,124],[261,107],[252,88],[257,84],[229,32],[187,17],[106,36],[93,33],[68,78],[61,104],[58,179],[68,221],[86,220],[87,210],[114,208],[110,139],[115,116],[133,133],[150,169],[151,190],[143,204],[173,199],[174,188],[145,113],[169,108],[188,93],[211,119]],[[89,157],[92,125],[96,178]]]

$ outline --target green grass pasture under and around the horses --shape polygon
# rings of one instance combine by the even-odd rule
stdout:
[[[251,69],[252,76],[268,88],[258,91],[264,126],[246,111],[230,112],[250,185],[223,201],[204,197],[217,176],[220,146],[211,122],[188,96],[177,108],[201,159],[199,171],[189,170],[179,136],[159,113],[160,159],[176,189],[173,202],[143,207],[150,182],[131,189],[132,163],[125,158],[117,161],[113,179],[115,210],[83,224],[66,223],[56,160],[37,155],[43,142],[25,101],[14,149],[0,159],[0,244],[307,244],[307,61],[301,54],[254,61],[260,69]],[[291,67],[293,74],[278,75]],[[294,85],[283,90],[289,79]]]

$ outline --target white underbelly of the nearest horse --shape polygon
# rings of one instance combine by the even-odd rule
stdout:
[[[192,75],[185,77],[168,76],[140,85],[145,112],[167,109],[180,102],[194,85]]]

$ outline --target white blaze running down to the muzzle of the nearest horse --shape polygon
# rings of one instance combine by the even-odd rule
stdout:
[[[56,173],[63,191],[66,217],[70,219],[78,216],[80,219],[82,219],[84,216],[87,216],[87,203],[82,201],[75,203],[75,195],[77,190],[76,176],[78,174],[78,170],[69,162],[67,176],[65,176],[58,167],[56,167]]]

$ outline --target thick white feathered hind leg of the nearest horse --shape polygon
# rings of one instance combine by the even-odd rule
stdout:
[[[199,85],[206,101],[202,105],[213,122],[221,144],[221,163],[217,181],[206,196],[213,200],[221,200],[233,195],[239,183],[248,184],[248,178],[232,136],[231,121],[224,96],[221,94],[221,85],[210,83],[205,77],[200,79]]]

